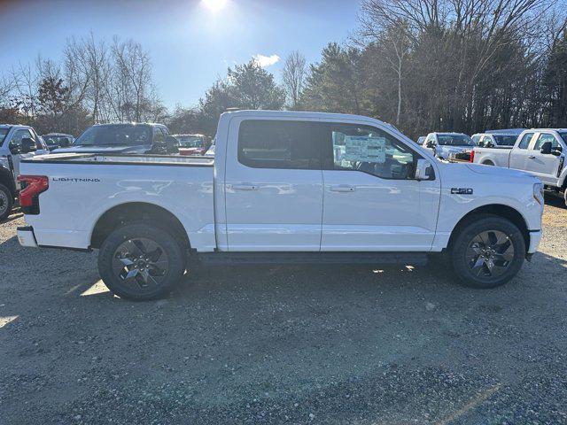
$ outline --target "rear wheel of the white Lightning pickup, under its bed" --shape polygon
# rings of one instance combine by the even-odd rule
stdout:
[[[162,298],[185,271],[183,249],[167,230],[129,224],[113,231],[100,246],[98,272],[120,298]]]

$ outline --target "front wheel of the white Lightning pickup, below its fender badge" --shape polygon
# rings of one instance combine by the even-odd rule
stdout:
[[[498,216],[474,217],[464,225],[452,245],[454,272],[472,288],[501,286],[524,263],[524,236],[516,225]]]

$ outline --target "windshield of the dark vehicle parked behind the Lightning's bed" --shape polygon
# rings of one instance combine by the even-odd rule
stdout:
[[[136,124],[120,124],[108,126],[93,126],[75,141],[75,146],[135,146],[151,144],[150,126]]]

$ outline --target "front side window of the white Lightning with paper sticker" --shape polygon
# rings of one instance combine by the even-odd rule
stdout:
[[[330,125],[335,170],[353,170],[382,179],[413,179],[416,153],[378,128]]]

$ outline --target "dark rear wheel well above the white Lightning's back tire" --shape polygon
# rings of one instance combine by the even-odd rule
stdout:
[[[183,249],[190,249],[189,238],[181,221],[165,208],[144,202],[117,205],[100,216],[90,236],[90,247],[100,248],[114,229],[135,221],[149,221],[170,231]]]

